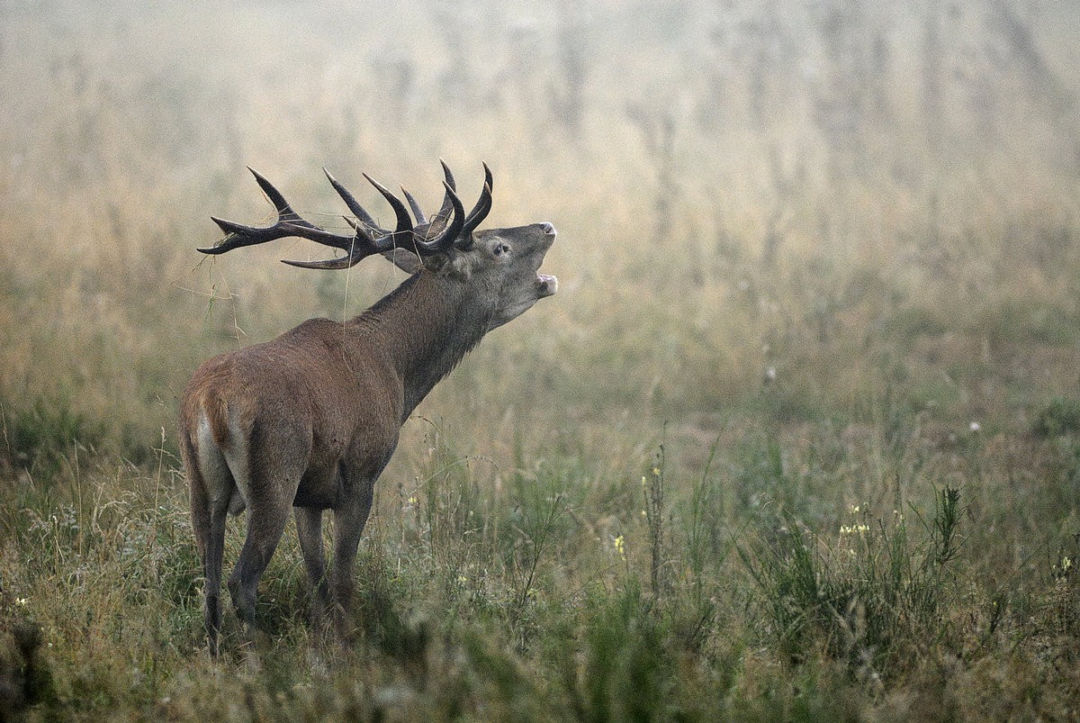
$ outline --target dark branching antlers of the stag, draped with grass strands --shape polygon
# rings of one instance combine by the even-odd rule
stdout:
[[[273,226],[258,228],[211,216],[214,223],[226,232],[226,237],[217,245],[208,249],[200,249],[199,251],[202,253],[224,254],[227,251],[232,251],[241,246],[251,246],[275,239],[297,237],[340,249],[347,254],[346,256],[323,262],[282,259],[292,266],[308,269],[343,269],[353,266],[361,259],[373,254],[386,253],[393,249],[405,249],[414,252],[417,256],[432,256],[449,251],[450,247],[457,247],[462,251],[471,247],[472,232],[491,210],[491,170],[487,168],[487,163],[484,163],[484,190],[481,191],[480,200],[476,201],[476,205],[473,206],[468,215],[465,215],[464,206],[461,205],[461,200],[457,196],[454,174],[450,173],[450,169],[445,162],[443,163],[443,173],[446,178],[443,180],[443,186],[446,189],[446,196],[443,199],[443,205],[438,210],[438,213],[431,220],[428,220],[420,209],[420,204],[417,203],[413,195],[405,190],[403,186],[402,192],[405,195],[409,206],[413,209],[413,214],[416,216],[416,226],[413,225],[408,209],[405,207],[401,199],[365,173],[364,177],[375,186],[376,190],[382,193],[383,198],[387,199],[394,210],[397,225],[391,231],[380,228],[372,215],[360,205],[360,202],[356,201],[352,193],[338,183],[330,175],[329,171],[323,169],[334,190],[338,192],[345,204],[349,206],[349,211],[355,216],[355,220],[349,216],[343,216],[354,230],[352,236],[345,236],[332,233],[306,220],[293,210],[293,206],[288,204],[288,201],[285,200],[281,191],[274,188],[269,180],[262,177],[255,169],[248,166],[247,170],[252,172],[259,187],[278,210],[278,222]]]

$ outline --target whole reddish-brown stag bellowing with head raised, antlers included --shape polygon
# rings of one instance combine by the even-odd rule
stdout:
[[[379,228],[329,173],[355,218],[354,232],[326,231],[301,218],[255,171],[278,210],[266,228],[214,218],[226,238],[206,254],[299,237],[346,255],[292,262],[301,268],[343,269],[380,254],[410,272],[369,309],[345,323],[310,319],[278,338],[214,357],[191,377],[180,401],[180,446],[191,485],[191,521],[206,581],[205,626],[218,650],[227,514],[247,510],[240,559],[229,594],[246,628],[255,620],[259,577],[288,518],[296,517],[312,587],[312,617],[328,607],[339,639],[348,637],[352,567],[372,509],[376,479],[402,425],[417,404],[492,329],[518,317],[557,280],[538,273],[555,240],[551,224],[477,231],[491,207],[491,173],[484,165],[480,201],[468,214],[443,164],[445,198],[426,218],[365,177],[393,206],[396,227]],[[334,562],[327,578],[324,510],[334,511]]]

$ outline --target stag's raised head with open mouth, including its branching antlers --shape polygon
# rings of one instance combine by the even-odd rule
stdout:
[[[345,219],[353,228],[351,235],[333,233],[303,219],[270,182],[249,169],[267,198],[278,210],[273,226],[256,228],[231,220],[214,218],[226,232],[217,245],[199,251],[221,254],[240,246],[265,243],[285,237],[298,237],[333,246],[343,256],[321,262],[284,260],[286,264],[312,269],[345,269],[367,256],[380,254],[400,268],[426,271],[449,284],[467,284],[470,293],[490,314],[488,329],[500,326],[521,316],[538,299],[551,296],[558,286],[553,276],[539,273],[544,254],[555,241],[551,224],[531,224],[514,228],[476,230],[491,210],[491,171],[484,164],[484,189],[473,209],[465,213],[457,196],[454,175],[443,163],[445,197],[442,207],[430,219],[405,188],[405,203],[367,174],[364,177],[393,207],[396,226],[381,228],[367,211],[337,179],[326,173],[352,216]],[[409,207],[416,217],[414,224]]]

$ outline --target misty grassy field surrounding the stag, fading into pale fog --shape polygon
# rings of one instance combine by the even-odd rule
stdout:
[[[0,720],[1080,715],[1069,2],[365,4],[0,3]],[[212,661],[179,391],[402,275],[208,216],[440,157],[559,293],[405,425],[356,644],[289,523]]]

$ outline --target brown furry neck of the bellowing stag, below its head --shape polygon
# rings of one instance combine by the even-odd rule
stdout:
[[[465,284],[421,270],[349,322],[357,343],[375,342],[400,375],[402,421],[487,332],[488,320],[470,302]]]

